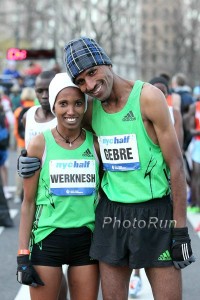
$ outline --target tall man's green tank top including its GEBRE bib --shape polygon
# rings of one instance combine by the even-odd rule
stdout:
[[[100,101],[93,101],[92,128],[98,136],[105,170],[101,185],[112,201],[138,203],[170,193],[169,169],[142,120],[143,84],[135,82],[126,105],[117,113],[106,113]]]

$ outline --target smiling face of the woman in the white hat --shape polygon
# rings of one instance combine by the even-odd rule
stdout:
[[[54,112],[58,125],[68,129],[81,127],[85,111],[85,96],[75,87],[67,87],[60,91],[54,104]]]

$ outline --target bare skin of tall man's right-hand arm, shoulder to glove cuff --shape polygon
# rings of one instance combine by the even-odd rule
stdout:
[[[186,179],[182,153],[170,119],[166,100],[157,88],[145,85],[142,90],[141,109],[150,137],[159,144],[170,169],[173,199],[173,218],[177,227],[186,226]],[[151,129],[151,124],[154,129]]]

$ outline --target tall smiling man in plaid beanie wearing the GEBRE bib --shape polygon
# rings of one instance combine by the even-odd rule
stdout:
[[[70,41],[65,63],[73,82],[93,100],[85,127],[98,136],[105,169],[90,252],[100,261],[103,298],[126,300],[132,269],[145,268],[156,299],[180,299],[180,268],[195,259],[186,227],[183,160],[165,97],[149,84],[115,74],[90,38]],[[153,220],[175,220],[176,228]]]

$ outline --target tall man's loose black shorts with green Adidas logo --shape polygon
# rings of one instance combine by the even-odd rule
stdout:
[[[124,204],[103,196],[96,209],[90,256],[132,269],[172,266],[169,196]]]

